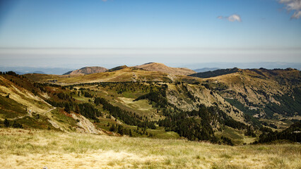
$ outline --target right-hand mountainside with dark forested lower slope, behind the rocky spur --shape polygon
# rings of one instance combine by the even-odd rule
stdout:
[[[230,104],[258,118],[301,115],[299,70],[240,70],[204,79]]]

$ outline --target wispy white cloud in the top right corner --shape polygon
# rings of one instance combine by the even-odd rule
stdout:
[[[284,4],[286,10],[294,11],[290,18],[301,18],[301,0],[279,0],[279,3]]]

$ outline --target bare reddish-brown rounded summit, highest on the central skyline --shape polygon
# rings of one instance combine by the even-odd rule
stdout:
[[[194,70],[189,68],[171,68],[163,63],[146,63],[143,65],[136,65],[136,68],[143,68],[145,70],[157,71],[162,73],[168,73],[172,75],[191,75],[196,73]]]

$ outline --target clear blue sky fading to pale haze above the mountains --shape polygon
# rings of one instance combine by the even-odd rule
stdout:
[[[301,63],[300,10],[300,0],[0,0],[0,65]]]

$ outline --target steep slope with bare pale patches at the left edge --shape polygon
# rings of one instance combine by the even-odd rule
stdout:
[[[22,75],[0,75],[0,127],[35,128],[100,134],[83,115],[47,103],[61,87],[30,82]],[[6,120],[7,123],[1,123]]]

